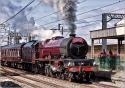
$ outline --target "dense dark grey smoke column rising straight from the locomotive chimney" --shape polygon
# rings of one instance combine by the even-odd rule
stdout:
[[[63,18],[68,25],[68,29],[71,34],[75,33],[76,30],[76,8],[77,8],[76,0],[60,0],[58,7],[60,7],[60,11],[63,14]]]

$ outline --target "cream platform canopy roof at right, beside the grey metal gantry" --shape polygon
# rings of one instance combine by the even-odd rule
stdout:
[[[125,37],[125,26],[90,31],[92,39],[117,39]]]

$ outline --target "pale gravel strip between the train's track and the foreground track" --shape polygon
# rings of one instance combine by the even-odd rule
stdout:
[[[12,69],[9,69],[9,68],[6,68],[6,69],[8,71],[15,72]],[[35,78],[35,79],[41,79],[41,80],[44,80],[46,82],[59,84],[61,86],[64,86],[65,88],[87,88],[87,86],[88,86],[88,85],[84,85],[84,84],[80,85],[80,84],[77,84],[77,83],[71,83],[71,82],[68,82],[68,81],[63,81],[63,80],[59,80],[59,79],[55,79],[55,78],[45,77],[45,76],[42,76],[42,75],[27,74],[25,71],[20,71],[20,70],[16,70],[16,72],[18,72],[18,73],[20,73],[22,75],[28,76],[28,77]],[[84,87],[84,86],[86,86],[86,87]],[[52,88],[52,87],[48,87],[48,88]],[[97,88],[97,87],[93,87],[93,88]]]

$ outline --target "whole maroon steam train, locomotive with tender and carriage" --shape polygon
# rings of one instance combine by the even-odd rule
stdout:
[[[1,47],[1,65],[30,70],[60,79],[90,81],[94,66],[87,59],[88,44],[74,34],[56,36],[45,41]]]

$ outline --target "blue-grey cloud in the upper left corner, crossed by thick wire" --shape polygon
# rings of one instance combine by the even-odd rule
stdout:
[[[21,8],[24,6],[19,5],[21,3],[21,0],[16,0],[14,3],[12,0],[1,0],[0,1],[0,22],[5,21],[14,13],[17,13]],[[16,3],[16,4],[15,4]],[[14,19],[9,21],[8,23],[11,26],[11,29],[16,29],[18,32],[20,32],[22,35],[26,35],[30,33],[34,28],[34,18],[27,18],[26,12],[29,12],[32,10],[32,7],[28,7],[26,10],[22,11],[20,14],[18,14]]]

